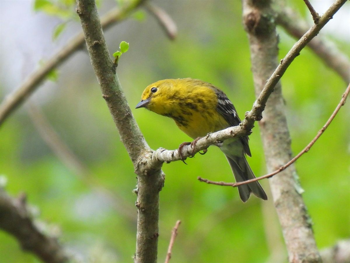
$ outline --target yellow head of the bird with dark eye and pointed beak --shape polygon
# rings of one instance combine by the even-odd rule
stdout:
[[[181,79],[163,79],[148,85],[142,92],[141,101],[136,105],[138,108],[146,108],[160,115],[172,112],[182,97]]]

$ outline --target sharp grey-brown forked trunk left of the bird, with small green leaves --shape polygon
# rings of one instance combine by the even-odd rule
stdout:
[[[77,13],[85,35],[91,64],[101,87],[120,138],[138,175],[136,206],[138,208],[137,242],[135,262],[156,262],[158,245],[159,191],[164,182],[161,164],[149,168],[148,158],[152,150],[147,145],[139,126],[135,122],[130,107],[116,75],[107,50],[102,27],[94,0],[78,0]],[[121,63],[119,63],[121,64]]]

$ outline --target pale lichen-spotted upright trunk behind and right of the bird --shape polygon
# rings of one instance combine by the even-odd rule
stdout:
[[[267,0],[243,1],[243,19],[249,36],[256,96],[278,66],[278,36],[270,4]],[[259,125],[267,169],[272,172],[292,157],[280,83],[275,85]],[[294,165],[269,179],[269,182],[289,262],[320,262]]]

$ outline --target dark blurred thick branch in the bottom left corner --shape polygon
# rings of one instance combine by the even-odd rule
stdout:
[[[44,262],[68,262],[68,255],[57,238],[44,234],[28,212],[26,196],[13,199],[0,187],[0,228],[16,237],[23,250]]]

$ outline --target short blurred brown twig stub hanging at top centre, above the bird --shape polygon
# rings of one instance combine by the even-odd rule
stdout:
[[[169,39],[174,40],[177,36],[177,26],[170,15],[165,12],[164,9],[155,6],[151,2],[148,2],[145,6],[146,9],[158,20],[161,27],[167,33]]]

